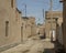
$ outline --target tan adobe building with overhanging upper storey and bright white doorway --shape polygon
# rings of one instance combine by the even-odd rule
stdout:
[[[52,17],[52,19],[51,19]],[[53,41],[56,40],[56,23],[57,19],[63,18],[62,11],[46,11],[45,12],[45,33],[46,39],[51,39]]]

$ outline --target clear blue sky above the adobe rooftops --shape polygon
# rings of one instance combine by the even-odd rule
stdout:
[[[23,17],[25,15],[25,4],[26,17],[34,17],[36,19],[36,23],[43,23],[45,20],[45,11],[50,10],[50,0],[16,0],[16,7],[20,11],[22,11]],[[63,6],[59,3],[59,0],[53,0],[53,10],[63,10]]]

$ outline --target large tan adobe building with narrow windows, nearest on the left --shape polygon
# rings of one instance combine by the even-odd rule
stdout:
[[[19,14],[15,0],[0,0],[0,47],[21,43]]]

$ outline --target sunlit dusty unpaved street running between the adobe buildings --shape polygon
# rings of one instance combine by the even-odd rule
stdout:
[[[26,42],[1,53],[54,53],[54,44],[50,40],[29,39]]]

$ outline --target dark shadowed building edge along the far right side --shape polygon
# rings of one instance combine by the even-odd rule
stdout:
[[[61,0],[63,2],[63,44],[66,53],[66,0]]]

